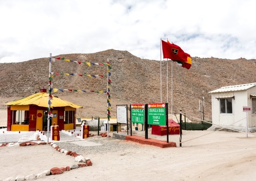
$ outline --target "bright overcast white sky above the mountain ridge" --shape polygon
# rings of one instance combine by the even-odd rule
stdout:
[[[0,63],[126,50],[256,59],[255,0],[0,0]]]

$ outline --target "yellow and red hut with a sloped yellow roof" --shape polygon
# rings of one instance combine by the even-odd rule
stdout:
[[[40,93],[6,103],[7,131],[47,131],[48,99],[46,89],[41,89]],[[50,125],[59,125],[59,130],[76,129],[76,109],[82,107],[56,96],[51,102]]]

